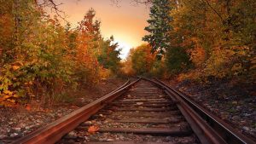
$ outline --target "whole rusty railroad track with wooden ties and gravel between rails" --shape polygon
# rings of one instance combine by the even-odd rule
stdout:
[[[158,79],[139,78],[13,143],[255,142]]]

